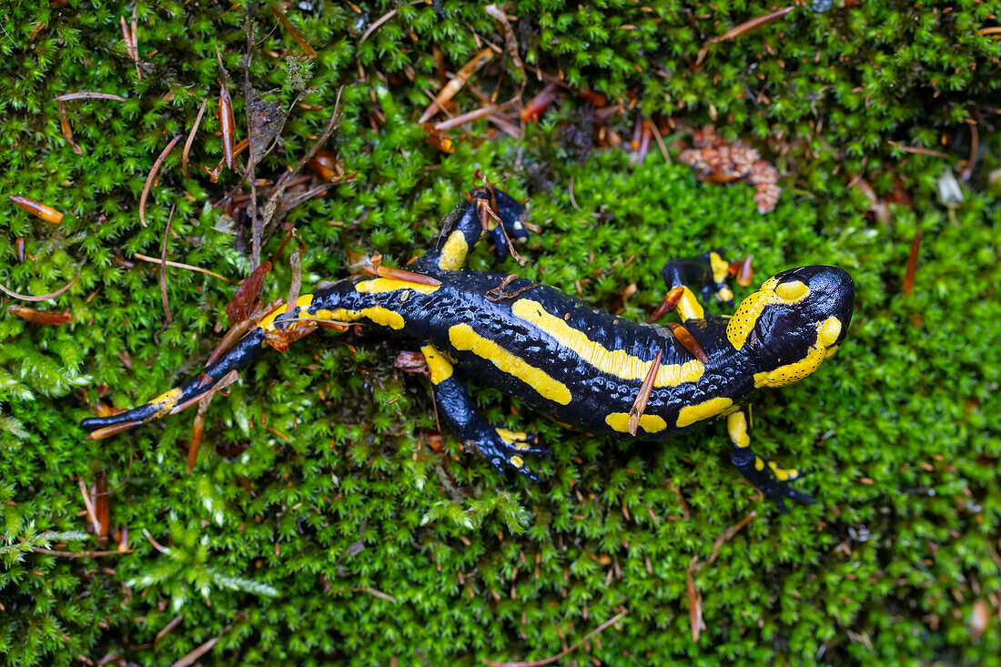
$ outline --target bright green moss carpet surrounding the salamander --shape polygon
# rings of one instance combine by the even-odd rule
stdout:
[[[211,113],[188,175],[176,150],[152,189],[148,226],[137,216],[156,154],[186,135],[202,100],[215,103],[216,46],[242,78],[245,15],[228,5],[9,4],[0,14],[0,193],[66,217],[54,226],[0,203],[0,281],[40,294],[80,278],[36,304],[68,307],[75,323],[0,314],[0,654],[15,664],[112,654],[169,664],[203,647],[206,664],[479,664],[557,655],[618,616],[563,662],[1001,662],[1001,206],[986,176],[975,176],[965,201],[945,209],[935,185],[955,159],[888,143],[942,149],[945,133],[953,143],[944,149],[962,158],[969,120],[988,147],[981,164],[996,160],[984,114],[1001,80],[998,42],[980,31],[996,20],[989,3],[877,4],[797,7],[711,44],[698,68],[707,40],[773,7],[510,8],[526,62],[562,70],[574,86],[632,96],[645,113],[716,116],[733,136],[784,135],[777,161],[792,171],[768,215],[754,210],[749,187],[701,183],[656,150],[640,165],[621,150],[581,154],[567,142],[567,122],[579,120],[572,102],[522,141],[483,141],[479,121],[454,153],[431,147],[414,118],[423,89],[438,87],[433,47],[455,70],[475,52],[474,33],[503,43],[472,4],[289,8],[317,51],[309,108],[293,111],[280,149],[258,167],[272,175],[293,164],[345,85],[327,148],[357,179],[286,217],[306,246],[304,289],[344,275],[348,247],[402,265],[476,184],[476,169],[528,197],[542,232],[521,248],[524,268],[486,248],[471,267],[517,271],[600,306],[635,282],[629,317],[645,318],[663,295],[664,261],[709,247],[752,253],[759,276],[845,267],[858,307],[842,350],[807,381],[754,403],[756,447],[806,471],[797,486],[818,499],[784,516],[731,470],[722,425],[657,446],[611,443],[478,388],[491,421],[539,432],[553,447],[552,459],[532,462],[543,482],[496,475],[447,434],[436,451],[425,381],[393,372],[400,345],[377,337],[320,332],[250,367],[213,403],[190,476],[190,417],[84,442],[77,423],[100,386],[110,388],[106,401],[128,407],[186,378],[221,336],[232,294],[217,278],[170,268],[166,324],[156,268],[115,257],[158,255],[176,204],[169,258],[234,280],[249,270],[245,233],[234,238],[210,205],[236,178],[226,172],[213,185],[201,170],[221,156]],[[141,81],[119,22],[133,8]],[[251,80],[287,106],[288,70],[299,63],[284,56],[301,52],[282,28],[269,32],[266,7],[252,14]],[[126,98],[66,103],[79,154],[53,101],[77,91]],[[462,110],[478,104],[459,101]],[[373,127],[375,108],[384,121]],[[912,203],[874,220],[871,201],[851,187],[862,174],[879,196],[897,183]],[[917,231],[917,281],[905,294]],[[16,237],[26,239],[24,262]],[[287,290],[287,253],[268,298]],[[36,551],[116,548],[84,531],[78,484],[102,475],[110,523],[127,527],[130,552]],[[706,630],[693,641],[686,570],[752,511],[696,575]]]

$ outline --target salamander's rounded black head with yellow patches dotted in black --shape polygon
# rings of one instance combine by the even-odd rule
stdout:
[[[801,266],[741,301],[727,338],[754,363],[756,387],[782,387],[816,371],[845,340],[855,283],[834,266]]]

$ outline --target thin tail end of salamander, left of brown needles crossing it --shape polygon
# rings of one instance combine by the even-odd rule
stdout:
[[[164,392],[145,405],[111,417],[83,420],[80,426],[84,431],[90,432],[87,440],[109,438],[140,424],[180,412],[196,403],[205,394],[221,389],[220,385],[227,385],[232,381],[230,374],[244,368],[267,350],[264,345],[264,329],[255,327],[217,362],[200,371],[180,387]]]

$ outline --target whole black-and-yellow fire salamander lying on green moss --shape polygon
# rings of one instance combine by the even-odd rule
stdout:
[[[837,351],[852,317],[851,276],[832,266],[786,270],[745,298],[733,316],[722,316],[706,313],[696,296],[700,291],[732,298],[725,282],[728,265],[719,252],[669,262],[664,277],[680,292],[676,307],[704,353],[700,360],[670,326],[629,321],[516,276],[461,270],[484,235],[500,254],[509,251],[511,238],[527,239],[524,210],[499,190],[476,188],[442,220],[434,247],[407,271],[344,279],[303,295],[293,312],[278,307],[188,383],[144,406],[81,426],[100,438],[190,406],[213,383],[264,352],[269,333],[294,322],[366,322],[421,346],[437,404],[453,433],[498,471],[508,465],[537,480],[526,458],[551,451],[529,434],[487,423],[465,378],[518,397],[559,422],[619,438],[631,437],[631,410],[633,430],[642,440],[726,418],[731,460],[745,478],[783,512],[784,498],[812,502],[789,486],[796,470],[765,461],[751,449],[743,406],[756,389],[802,380]],[[634,406],[641,390],[649,391],[649,399],[637,423]]]

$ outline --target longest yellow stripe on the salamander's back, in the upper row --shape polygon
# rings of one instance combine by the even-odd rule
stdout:
[[[654,364],[653,361],[645,362],[639,357],[630,355],[625,350],[609,350],[602,344],[592,341],[584,331],[574,328],[563,318],[547,312],[539,301],[521,298],[512,304],[511,310],[516,316],[552,336],[560,345],[570,349],[602,373],[622,380],[643,382]],[[654,387],[678,387],[683,383],[694,383],[702,378],[705,370],[706,367],[697,359],[685,364],[665,364],[657,372]]]

